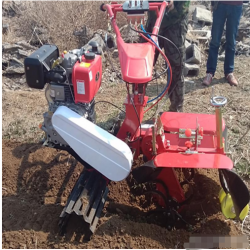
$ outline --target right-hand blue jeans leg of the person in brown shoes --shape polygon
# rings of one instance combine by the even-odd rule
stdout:
[[[225,75],[234,71],[234,54],[236,45],[236,36],[242,14],[242,5],[228,6],[228,16],[226,23],[226,51],[224,73]]]

